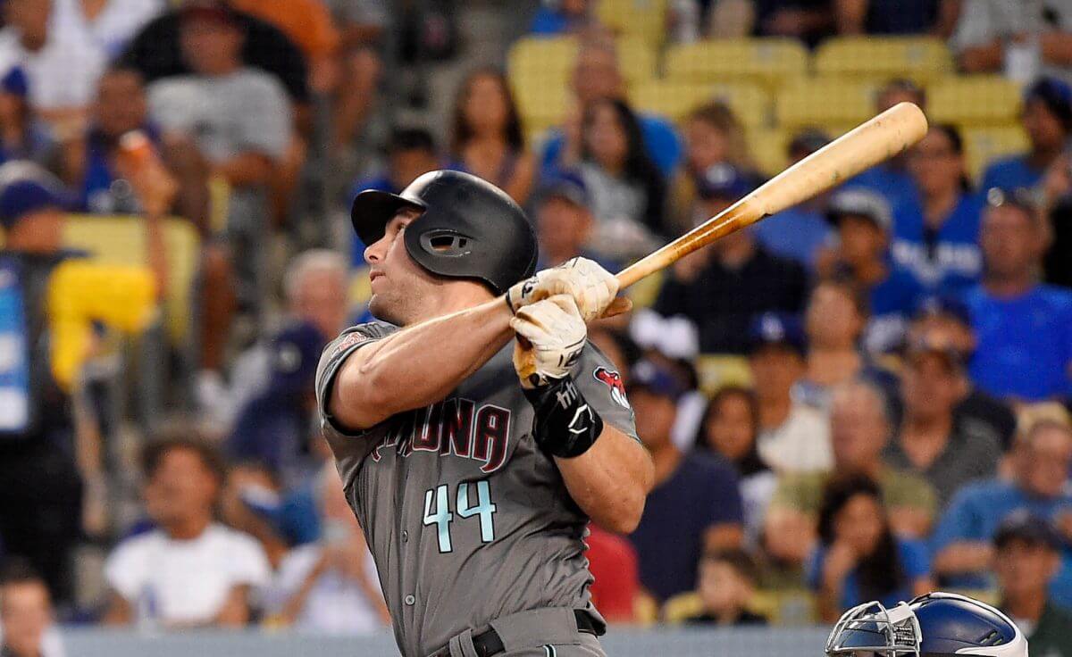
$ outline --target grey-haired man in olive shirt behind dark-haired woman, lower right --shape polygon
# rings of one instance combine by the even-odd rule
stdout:
[[[800,567],[815,544],[823,487],[836,474],[874,480],[895,534],[922,538],[935,518],[935,492],[924,479],[882,459],[891,421],[881,389],[866,380],[838,386],[831,395],[831,473],[788,474],[766,511],[765,547],[783,565]]]

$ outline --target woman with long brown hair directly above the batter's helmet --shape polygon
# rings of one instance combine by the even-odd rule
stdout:
[[[498,71],[481,69],[462,83],[455,102],[451,168],[479,176],[524,204],[535,161],[525,150],[517,105]]]

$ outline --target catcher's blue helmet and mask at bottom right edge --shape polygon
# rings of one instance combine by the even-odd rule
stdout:
[[[887,609],[845,612],[827,640],[828,657],[1027,657],[1027,639],[1000,611],[952,593]]]

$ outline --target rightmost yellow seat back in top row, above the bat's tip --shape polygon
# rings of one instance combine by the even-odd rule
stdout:
[[[953,71],[946,44],[926,36],[840,36],[823,42],[815,54],[816,75],[880,83],[905,77],[922,84]]]

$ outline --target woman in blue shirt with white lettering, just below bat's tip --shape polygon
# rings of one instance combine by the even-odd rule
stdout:
[[[982,272],[979,215],[964,166],[964,143],[952,125],[933,125],[909,154],[920,205],[897,216],[893,259],[928,292],[969,287]]]

